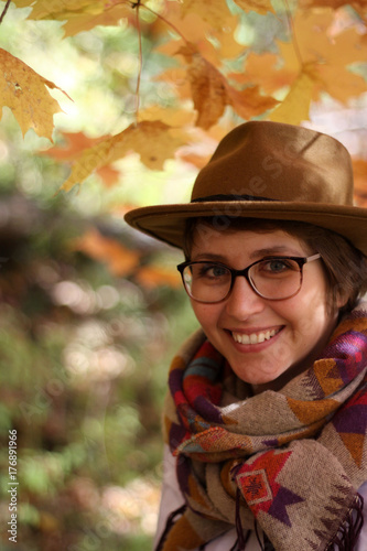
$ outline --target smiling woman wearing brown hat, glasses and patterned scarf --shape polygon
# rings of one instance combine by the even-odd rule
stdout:
[[[345,148],[247,122],[188,205],[127,222],[183,248],[202,327],[170,370],[156,549],[367,549],[367,210]]]

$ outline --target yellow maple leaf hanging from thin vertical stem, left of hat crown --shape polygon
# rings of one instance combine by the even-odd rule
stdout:
[[[69,191],[96,170],[118,161],[131,151],[140,154],[141,162],[151,170],[162,170],[164,161],[173,158],[183,145],[186,134],[160,120],[143,120],[131,125],[119,134],[107,137],[82,152],[72,166],[69,177],[62,190]]]

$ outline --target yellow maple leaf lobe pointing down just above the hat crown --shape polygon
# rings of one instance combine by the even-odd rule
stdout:
[[[290,125],[300,125],[307,120],[314,85],[312,68],[304,66],[285,99],[269,116],[269,120]]]

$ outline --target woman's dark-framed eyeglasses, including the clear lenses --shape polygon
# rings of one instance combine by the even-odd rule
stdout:
[[[238,276],[244,276],[256,294],[269,301],[294,296],[302,287],[303,266],[321,258],[270,257],[257,260],[244,270],[234,270],[222,262],[182,262],[177,266],[184,288],[192,299],[205,304],[226,300]]]

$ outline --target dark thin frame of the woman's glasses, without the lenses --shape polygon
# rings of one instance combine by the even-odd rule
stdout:
[[[292,299],[292,296],[295,296],[301,291],[302,283],[303,283],[303,267],[304,267],[304,264],[307,263],[307,262],[312,262],[313,260],[319,260],[320,258],[322,258],[321,255],[320,255],[320,252],[316,252],[315,255],[311,255],[310,257],[284,257],[284,256],[265,257],[265,258],[261,258],[260,260],[256,260],[256,262],[252,262],[247,268],[244,268],[244,270],[235,270],[234,268],[229,268],[229,266],[227,266],[227,264],[225,264],[223,262],[216,262],[216,261],[211,261],[211,260],[207,260],[207,261],[199,260],[199,261],[194,261],[194,262],[192,262],[192,261],[188,260],[186,262],[182,262],[181,264],[179,264],[177,266],[177,270],[181,273],[182,282],[183,282],[184,289],[185,289],[186,293],[188,294],[188,296],[191,299],[193,299],[193,301],[199,302],[202,304],[218,304],[218,303],[224,302],[225,300],[227,300],[228,296],[230,295],[233,289],[234,289],[236,278],[238,278],[239,276],[242,276],[246,279],[246,281],[249,283],[249,285],[252,289],[252,291],[258,296],[261,296],[261,299],[266,299],[267,301],[285,301],[288,299]],[[293,260],[294,262],[296,262],[299,264],[299,269],[300,269],[300,287],[299,287],[299,289],[293,294],[290,294],[289,296],[287,296],[284,299],[268,299],[268,296],[265,296],[263,294],[261,294],[256,289],[253,282],[251,281],[251,279],[249,277],[249,271],[252,268],[252,266],[259,264],[260,262],[263,262],[265,260]],[[230,285],[229,285],[229,290],[228,290],[226,296],[224,296],[223,299],[220,299],[220,301],[199,301],[198,299],[195,299],[190,293],[190,291],[188,291],[188,289],[186,287],[186,283],[185,283],[185,280],[184,280],[184,270],[185,270],[185,268],[187,268],[188,266],[192,266],[192,264],[205,264],[205,263],[220,266],[222,268],[226,268],[226,270],[228,270],[230,272]]]

